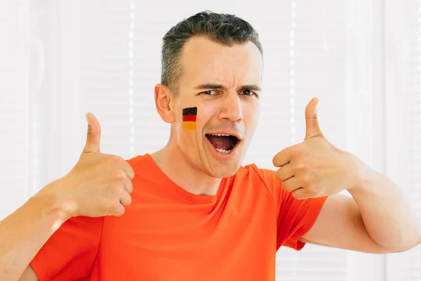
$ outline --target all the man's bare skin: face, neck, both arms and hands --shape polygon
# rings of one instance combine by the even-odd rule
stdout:
[[[228,47],[194,37],[185,45],[182,67],[178,95],[166,86],[155,87],[156,110],[171,124],[171,136],[152,157],[185,190],[215,195],[220,178],[239,169],[257,126],[260,91],[253,91],[256,96],[244,95],[249,92],[243,91],[243,85],[260,87],[262,58],[251,43]],[[208,83],[222,88],[195,89]],[[283,188],[298,200],[330,195],[301,240],[368,253],[405,251],[420,244],[420,223],[399,189],[324,138],[316,118],[317,103],[313,99],[306,108],[305,140],[281,150],[273,159]],[[182,108],[192,106],[198,107],[196,131],[182,129]],[[131,203],[127,178],[133,178],[133,170],[121,158],[100,153],[99,123],[92,116],[88,122],[87,150],[72,172],[0,222],[0,274],[6,280],[37,280],[28,264],[67,218],[77,214],[121,216],[121,208]],[[206,143],[206,133],[224,131],[241,137],[238,150],[229,157],[218,156]],[[104,181],[107,175],[112,176]],[[98,189],[102,196],[90,202],[84,199],[83,194]],[[338,195],[342,190],[352,197]]]

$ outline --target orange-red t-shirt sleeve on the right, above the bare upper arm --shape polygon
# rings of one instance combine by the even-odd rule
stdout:
[[[275,171],[260,169],[260,172],[278,211],[276,249],[286,246],[300,251],[305,242],[299,240],[314,225],[327,197],[297,200],[292,192],[283,190],[282,181],[276,179]]]

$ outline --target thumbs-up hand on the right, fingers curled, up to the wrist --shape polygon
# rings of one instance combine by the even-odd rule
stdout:
[[[317,98],[305,109],[306,133],[302,143],[278,152],[273,164],[276,178],[296,199],[335,195],[359,183],[363,164],[354,155],[335,148],[321,132]]]

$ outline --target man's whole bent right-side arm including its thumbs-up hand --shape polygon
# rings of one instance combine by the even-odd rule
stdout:
[[[303,143],[274,157],[276,178],[295,199],[329,196],[302,242],[386,253],[405,251],[421,242],[421,227],[398,188],[323,136],[316,115],[318,101],[305,110]],[[338,195],[348,190],[354,200]]]

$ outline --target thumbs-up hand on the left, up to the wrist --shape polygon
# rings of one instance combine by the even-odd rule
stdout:
[[[79,161],[46,192],[53,192],[69,217],[121,216],[132,201],[134,171],[121,157],[100,152],[100,124],[90,113],[86,119],[88,136]]]

